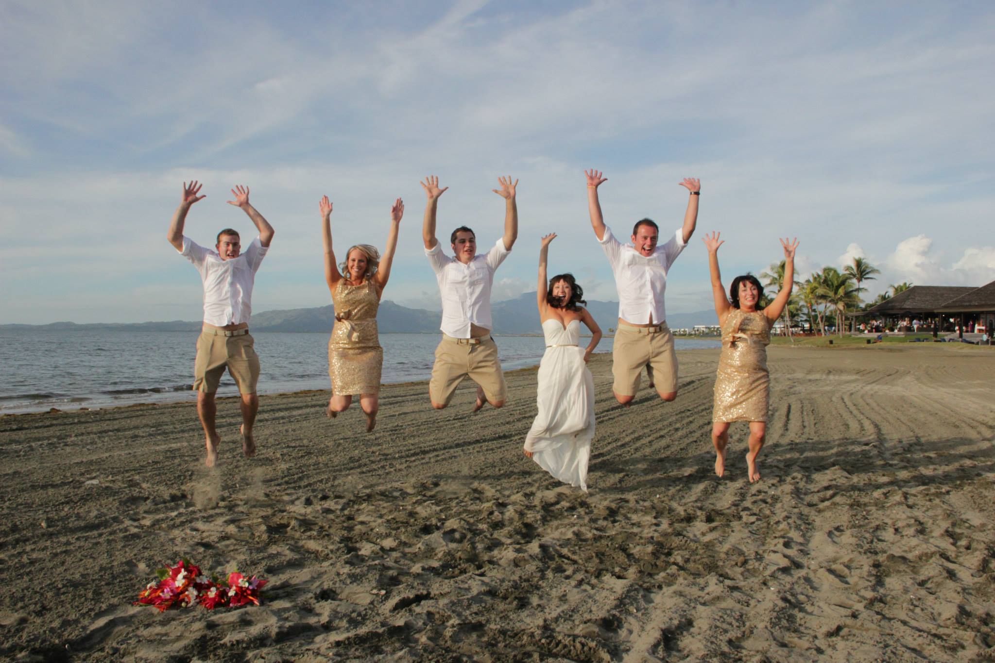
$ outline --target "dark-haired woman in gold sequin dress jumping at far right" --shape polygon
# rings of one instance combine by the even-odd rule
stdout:
[[[731,421],[749,422],[749,451],[746,470],[750,483],[760,479],[756,457],[767,434],[767,345],[770,328],[788,303],[795,275],[795,249],[798,241],[781,240],[784,248],[784,286],[768,306],[757,310],[763,286],[752,275],[736,276],[725,296],[718,272],[718,248],[724,244],[718,233],[704,237],[708,248],[711,291],[715,313],[722,329],[722,353],[715,376],[715,399],[712,409],[711,443],[715,446],[715,474],[725,472],[725,447],[729,441]],[[729,300],[731,299],[731,301]]]

